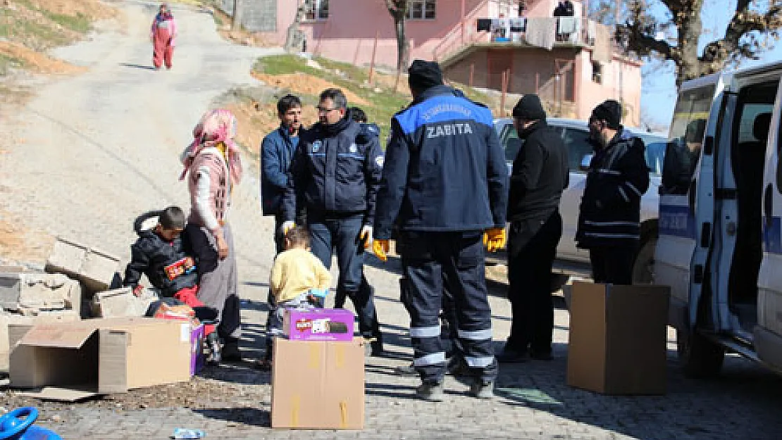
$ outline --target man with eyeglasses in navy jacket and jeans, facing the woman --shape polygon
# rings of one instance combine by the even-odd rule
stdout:
[[[353,302],[361,335],[372,354],[382,353],[374,290],[364,278],[365,249],[371,245],[375,197],[383,152],[375,136],[361,136],[342,91],[328,88],[317,105],[318,122],[300,134],[291,178],[282,202],[282,231],[303,223],[306,212],[312,253],[339,265],[337,292]]]

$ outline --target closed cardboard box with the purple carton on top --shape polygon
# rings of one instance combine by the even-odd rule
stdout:
[[[364,342],[274,340],[271,427],[364,427]]]

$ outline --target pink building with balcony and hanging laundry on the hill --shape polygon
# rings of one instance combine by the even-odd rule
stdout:
[[[587,119],[607,98],[625,104],[626,124],[640,124],[640,63],[615,52],[612,30],[575,16],[553,17],[558,0],[526,0],[521,31],[508,27],[519,17],[519,0],[409,0],[407,38],[411,59],[435,59],[449,80],[510,93],[538,93],[552,116]],[[267,0],[268,2],[268,0]],[[396,66],[396,36],[385,0],[271,0],[276,30],[264,36],[282,45],[303,5],[301,30],[307,52],[355,65]],[[504,38],[478,30],[479,19],[502,17]],[[270,16],[264,16],[267,23]],[[518,23],[517,23],[518,24]],[[268,29],[268,28],[267,28]],[[565,33],[564,30],[568,32]],[[507,41],[505,41],[507,40]]]

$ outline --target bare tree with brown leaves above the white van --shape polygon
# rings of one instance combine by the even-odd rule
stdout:
[[[667,8],[665,18],[652,16],[653,1]],[[779,39],[782,0],[735,0],[724,33],[712,30],[719,37],[698,53],[704,4],[705,0],[630,0],[627,19],[617,27],[616,39],[629,52],[672,61],[676,66],[676,86],[744,59],[758,59]],[[716,6],[723,5],[724,0]],[[659,38],[666,33],[670,40]]]

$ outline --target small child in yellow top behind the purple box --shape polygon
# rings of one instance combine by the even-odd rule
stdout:
[[[292,227],[285,234],[285,251],[280,252],[271,267],[266,357],[259,361],[260,369],[271,368],[272,341],[282,335],[285,309],[321,307],[331,284],[332,274],[310,252],[310,232],[304,227]]]

